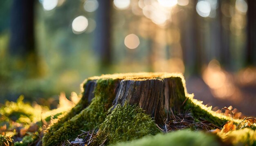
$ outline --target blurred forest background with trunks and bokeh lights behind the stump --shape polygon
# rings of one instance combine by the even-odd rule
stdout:
[[[102,73],[181,72],[256,116],[256,0],[1,0],[0,102],[54,108]]]

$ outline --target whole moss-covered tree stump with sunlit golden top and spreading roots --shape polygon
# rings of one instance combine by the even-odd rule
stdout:
[[[156,124],[161,126],[172,120],[171,115],[185,110],[190,110],[195,119],[208,120],[218,126],[230,120],[193,99],[193,95],[186,92],[184,77],[177,73],[101,75],[88,78],[82,85],[80,102],[47,130],[43,145],[61,144],[77,137],[81,130],[92,129],[99,129],[94,145],[106,139],[105,144],[112,144],[155,135],[159,132]],[[131,122],[142,128],[134,129],[137,125]]]

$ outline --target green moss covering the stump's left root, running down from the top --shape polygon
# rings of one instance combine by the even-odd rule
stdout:
[[[44,138],[44,146],[55,146],[65,141],[73,139],[80,130],[89,131],[101,124],[112,101],[115,98],[115,81],[112,79],[99,79],[94,90],[94,98],[91,104],[83,109],[79,114],[67,120],[58,130],[52,132],[51,137]]]

